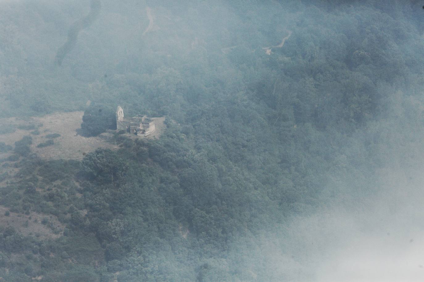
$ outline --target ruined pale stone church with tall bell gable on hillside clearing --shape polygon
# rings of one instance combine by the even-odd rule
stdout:
[[[125,130],[130,134],[148,136],[155,131],[155,123],[145,115],[124,118],[124,110],[118,106],[116,110],[116,129]]]

